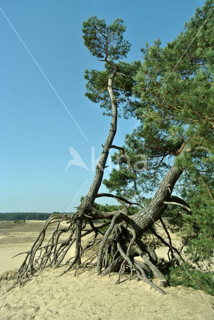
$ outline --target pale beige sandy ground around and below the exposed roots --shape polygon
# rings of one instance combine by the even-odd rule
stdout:
[[[44,221],[27,221],[16,225],[0,222],[0,273],[15,270],[24,255],[11,257],[26,251],[36,238]],[[50,226],[48,232],[53,227]],[[172,237],[172,243],[179,239]],[[158,255],[165,256],[160,249]],[[72,252],[69,253],[72,255]],[[113,285],[117,275],[97,276],[95,270],[87,270],[73,276],[73,271],[62,276],[64,266],[38,272],[26,285],[10,292],[5,277],[0,282],[0,319],[69,319],[69,320],[169,320],[212,319],[213,297],[203,291],[182,286],[164,288],[166,295],[150,289],[142,281],[130,281],[123,276],[118,285]],[[155,282],[155,280],[154,280]],[[158,284],[158,283],[157,283]]]

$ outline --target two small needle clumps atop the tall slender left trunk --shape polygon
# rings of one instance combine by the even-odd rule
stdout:
[[[90,53],[100,61],[104,61],[104,70],[85,70],[86,93],[85,95],[95,103],[105,108],[103,114],[110,115],[111,102],[108,94],[108,78],[114,70],[116,76],[113,81],[113,91],[116,98],[117,109],[124,117],[132,115],[132,109],[139,106],[137,98],[133,97],[132,87],[135,84],[133,79],[140,62],[127,63],[118,61],[125,58],[130,48],[130,43],[123,39],[125,26],[122,19],[116,19],[112,24],[107,25],[104,19],[96,16],[83,21],[84,44]],[[119,112],[120,114],[120,112]]]

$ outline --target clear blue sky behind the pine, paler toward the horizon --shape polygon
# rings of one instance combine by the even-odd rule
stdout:
[[[127,61],[159,37],[173,40],[201,0],[3,0],[0,7],[54,87],[77,125],[0,11],[0,212],[68,212],[92,182],[95,158],[110,118],[85,96],[84,70],[102,62],[84,47],[81,25],[91,15],[123,18],[131,42]],[[119,119],[114,144],[122,145],[136,119]],[[71,165],[69,147],[89,170]],[[107,177],[108,171],[104,177]],[[83,187],[82,187],[83,186]],[[81,189],[82,188],[82,189]],[[81,189],[81,190],[80,190]],[[79,191],[80,190],[80,191]],[[106,191],[101,187],[100,191]],[[78,193],[79,192],[79,193]],[[99,199],[100,203],[113,200]],[[72,203],[72,204],[71,204]]]

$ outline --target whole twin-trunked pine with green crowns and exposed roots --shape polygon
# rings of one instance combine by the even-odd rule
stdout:
[[[139,61],[123,61],[130,44],[123,38],[125,26],[122,19],[107,25],[104,19],[93,16],[83,22],[84,44],[93,56],[104,62],[102,71],[85,71],[86,95],[93,102],[99,102],[105,113],[111,115],[110,129],[87,194],[74,214],[56,212],[47,219],[19,268],[19,283],[23,283],[28,274],[46,266],[59,266],[70,246],[75,243],[75,256],[71,262],[65,262],[70,264],[64,272],[74,265],[76,271],[91,266],[91,262],[92,266],[96,266],[98,275],[118,272],[116,283],[119,283],[125,270],[130,272],[130,276],[136,272],[137,279],[142,279],[164,294],[159,286],[166,286],[167,280],[159,270],[161,265],[158,268],[157,255],[145,234],[152,233],[169,247],[170,263],[175,261],[175,255],[178,260],[182,259],[179,250],[172,245],[161,218],[165,213],[177,222],[181,231],[184,230],[183,241],[189,243],[186,254],[192,255],[192,246],[200,259],[204,237],[201,237],[198,230],[207,231],[210,236],[209,212],[213,200],[212,20],[212,5],[208,0],[202,9],[196,9],[195,16],[185,26],[185,32],[180,33],[174,41],[164,48],[161,48],[160,40],[156,40],[150,47],[146,45],[142,49],[141,64]],[[117,112],[126,117],[135,115],[140,122],[139,127],[126,138],[124,147],[113,144]],[[113,170],[109,180],[105,181],[109,190],[114,190],[116,194],[98,193],[110,148],[120,150],[123,156],[120,169]],[[139,154],[147,157],[146,170],[143,170],[144,158],[142,160],[140,156],[140,161],[136,163]],[[175,183],[180,180],[180,195],[183,198],[171,194]],[[141,200],[137,201],[139,203],[133,200],[135,195],[141,198],[142,192],[157,186],[153,198],[150,201],[144,200],[144,207]],[[202,198],[203,204],[198,197],[194,197],[194,190],[203,190],[202,194],[206,194]],[[102,210],[94,203],[100,196],[116,198],[122,209],[110,212]],[[133,204],[138,205],[139,210],[130,214],[129,207]],[[202,227],[203,214],[207,217]],[[107,222],[95,225],[97,219],[105,219]],[[168,242],[153,227],[157,220],[164,226]],[[68,222],[67,227],[61,227],[61,221]],[[46,228],[53,222],[57,223],[57,227],[49,242],[42,246]],[[86,226],[90,229],[85,229]],[[173,226],[176,227],[175,224]],[[101,230],[105,227],[107,230],[104,233]],[[188,228],[194,235],[190,240]],[[65,232],[68,232],[67,240],[60,241],[60,235]],[[82,247],[81,239],[89,233],[94,238]],[[101,236],[97,237],[98,234]],[[93,252],[85,264],[81,261],[82,254],[94,245],[98,245],[98,250]],[[204,260],[209,259],[210,252],[211,247],[204,251]],[[141,261],[134,259],[138,255]],[[94,263],[92,261],[95,258]],[[159,286],[147,278],[151,271],[159,279]]]

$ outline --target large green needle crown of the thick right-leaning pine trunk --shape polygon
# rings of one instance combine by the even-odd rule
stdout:
[[[196,9],[185,24],[185,32],[174,41],[161,47],[158,39],[142,49],[143,61],[132,89],[140,98],[140,106],[133,104],[129,109],[140,124],[126,136],[124,145],[125,153],[133,158],[131,171],[124,172],[123,182],[124,168],[120,173],[112,171],[109,183],[105,181],[107,187],[114,185],[120,192],[120,185],[124,189],[126,184],[125,192],[137,186],[142,192],[151,191],[174,159],[181,168],[197,170],[209,180],[214,128],[213,15],[212,1],[208,0]],[[178,162],[176,155],[184,141],[191,151]],[[147,158],[146,171],[134,170],[134,154]]]

